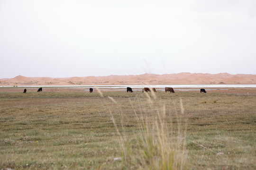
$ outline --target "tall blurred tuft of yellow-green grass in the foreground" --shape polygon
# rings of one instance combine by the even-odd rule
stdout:
[[[153,99],[146,94],[148,103],[152,104]],[[112,98],[112,102],[116,103]],[[184,114],[183,103],[181,104],[181,114]],[[134,108],[133,108],[134,109]],[[186,170],[188,168],[187,151],[186,151],[186,130],[181,132],[181,117],[176,116],[179,121],[178,135],[175,136],[172,132],[172,127],[168,124],[166,117],[165,104],[162,110],[156,110],[153,117],[138,115],[137,110],[133,110],[139,127],[136,135],[131,139],[126,138],[126,133],[120,133],[117,127],[116,120],[110,112],[113,124],[119,134],[119,144],[122,149],[122,155],[127,166],[140,165],[141,170]],[[147,114],[146,114],[147,115]],[[176,142],[171,142],[175,140]],[[136,150],[132,149],[136,148]]]

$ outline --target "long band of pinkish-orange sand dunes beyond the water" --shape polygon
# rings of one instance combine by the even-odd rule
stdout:
[[[229,73],[143,74],[128,76],[85,76],[68,78],[26,77],[0,79],[0,85],[178,85],[178,84],[256,84],[256,75]]]

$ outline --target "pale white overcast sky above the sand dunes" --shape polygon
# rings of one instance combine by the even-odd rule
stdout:
[[[256,0],[0,0],[0,78],[256,74]]]

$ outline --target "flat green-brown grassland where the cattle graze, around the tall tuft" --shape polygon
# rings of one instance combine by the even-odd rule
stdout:
[[[256,169],[255,94],[146,94],[0,91],[0,169],[163,168],[160,144],[178,169]]]

